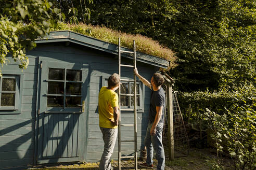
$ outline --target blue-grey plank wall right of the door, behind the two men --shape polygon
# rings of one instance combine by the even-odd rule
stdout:
[[[109,66],[108,68],[111,68],[111,66]],[[139,67],[139,66],[138,66],[138,69],[142,76],[144,76],[148,80],[151,78],[150,70],[144,70],[145,68]],[[117,70],[112,70],[111,73],[113,72],[117,72]],[[130,72],[127,74],[133,75],[133,72]],[[90,95],[90,100],[89,100],[90,104],[89,104],[89,121],[88,121],[88,149],[87,149],[87,161],[90,161],[90,162],[99,161],[104,149],[102,135],[98,126],[98,123],[99,123],[98,113],[96,111],[98,92],[101,87],[100,75],[101,75],[101,70],[98,69],[98,70],[92,71],[90,92],[92,94],[92,91],[93,91],[93,95]],[[125,73],[123,75],[125,75]],[[130,77],[130,76],[127,76],[127,77]],[[144,147],[143,141],[146,134],[146,128],[148,123],[147,112],[149,110],[149,97],[150,97],[150,91],[148,89],[145,89],[144,113],[137,114],[137,145],[138,145],[137,149],[138,150]],[[134,122],[133,113],[123,113],[121,115],[121,122],[125,122],[126,124],[129,124],[129,123],[132,124]],[[133,127],[122,127],[121,138],[133,139],[134,138]],[[121,154],[125,154],[125,155],[130,155],[134,153],[134,143],[131,142],[131,143],[122,144],[121,150],[122,150]],[[116,146],[114,148],[112,158],[113,159],[118,158],[118,140],[116,141]]]

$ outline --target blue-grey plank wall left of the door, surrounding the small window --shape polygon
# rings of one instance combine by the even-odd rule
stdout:
[[[24,72],[21,114],[0,115],[0,169],[15,169],[33,165],[34,132],[38,60],[29,55]],[[2,70],[20,71],[18,63],[10,63]],[[2,113],[4,111],[1,111]]]

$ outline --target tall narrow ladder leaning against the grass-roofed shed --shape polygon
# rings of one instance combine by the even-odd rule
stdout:
[[[133,54],[133,65],[125,65],[121,64],[121,52],[122,53],[132,53]],[[133,41],[133,51],[122,51],[121,50],[121,41],[118,38],[118,54],[119,54],[119,77],[120,81],[130,81],[129,79],[121,79],[121,67],[132,67],[136,68],[136,44],[135,40]],[[138,161],[137,161],[137,86],[136,86],[136,75],[134,74],[134,94],[121,94],[121,84],[119,85],[119,107],[120,107],[120,116],[119,116],[119,124],[118,124],[118,168],[121,170],[121,159],[126,158],[134,158],[134,166],[135,169],[138,169]],[[122,109],[121,108],[121,95],[122,96],[134,96],[134,108],[133,109]],[[121,124],[121,112],[122,111],[134,111],[134,124]],[[121,126],[133,126],[134,127],[134,139],[133,140],[121,140]],[[132,156],[121,156],[121,143],[134,141],[134,155]]]

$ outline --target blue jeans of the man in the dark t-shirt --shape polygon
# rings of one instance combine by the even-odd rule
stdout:
[[[153,123],[148,123],[147,132],[145,136],[145,146],[147,147],[147,161],[148,165],[153,163],[153,150],[156,152],[157,155],[157,169],[164,170],[164,150],[162,144],[162,132],[163,132],[163,123],[158,123],[156,127],[156,135],[151,136],[150,130]]]

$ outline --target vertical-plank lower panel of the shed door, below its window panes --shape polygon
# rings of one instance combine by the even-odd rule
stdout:
[[[43,158],[78,156],[78,114],[45,114]]]

